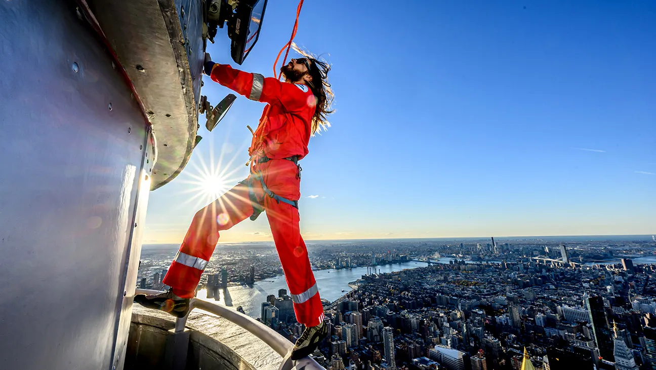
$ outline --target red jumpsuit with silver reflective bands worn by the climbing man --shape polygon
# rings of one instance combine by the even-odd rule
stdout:
[[[300,198],[300,173],[297,165],[283,158],[308,154],[311,122],[316,98],[306,85],[281,82],[215,64],[211,79],[251,100],[268,103],[262,112],[253,145],[252,158],[266,156],[268,162],[255,164],[253,170],[274,194],[289,200]],[[267,109],[269,109],[267,114]],[[205,208],[196,212],[184,241],[163,283],[174,294],[192,298],[201,274],[214,252],[220,230],[230,229],[253,214],[248,183],[258,199],[263,198],[266,217],[285,280],[294,303],[297,321],[308,327],[323,321],[323,306],[310,267],[308,250],[298,228],[298,210],[285,202],[277,202],[262,190],[260,181],[250,175],[236,187]]]

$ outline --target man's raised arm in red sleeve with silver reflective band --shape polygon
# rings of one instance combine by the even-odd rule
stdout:
[[[204,70],[213,81],[254,101],[279,104],[288,112],[295,112],[308,104],[307,90],[304,91],[293,83],[243,72],[232,68],[229,64],[218,64],[211,60],[205,62]]]

